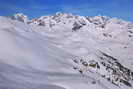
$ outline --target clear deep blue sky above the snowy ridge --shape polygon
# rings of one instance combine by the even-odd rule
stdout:
[[[106,15],[133,22],[133,0],[0,0],[0,15],[19,12],[30,18],[67,12],[83,16]]]

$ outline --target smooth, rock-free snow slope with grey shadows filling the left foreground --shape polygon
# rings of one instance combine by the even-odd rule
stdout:
[[[49,38],[26,32],[26,25],[5,17],[0,17],[0,25],[0,89],[99,87],[74,72],[72,55],[52,45]]]

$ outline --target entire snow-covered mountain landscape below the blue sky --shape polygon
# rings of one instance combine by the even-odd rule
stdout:
[[[0,17],[0,89],[132,89],[133,23],[56,13]]]

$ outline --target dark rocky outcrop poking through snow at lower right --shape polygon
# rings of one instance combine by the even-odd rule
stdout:
[[[75,66],[73,69],[79,71],[82,75],[87,72],[98,73],[101,77],[107,79],[116,86],[124,84],[132,87],[133,85],[130,82],[133,81],[133,72],[124,67],[116,58],[103,52],[101,52],[101,54],[102,56],[99,56],[99,61],[89,58],[74,58],[73,62],[75,63]],[[103,68],[101,69],[101,67],[105,68],[105,74],[99,71],[103,71]]]

